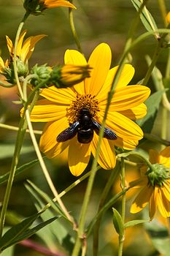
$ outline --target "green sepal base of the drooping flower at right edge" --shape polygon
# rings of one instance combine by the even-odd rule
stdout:
[[[170,169],[161,164],[152,165],[152,171],[147,170],[147,178],[152,187],[162,187],[166,179],[170,178]]]

